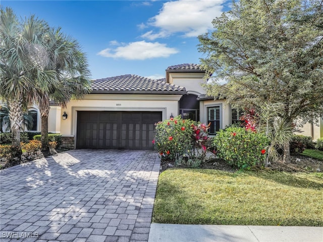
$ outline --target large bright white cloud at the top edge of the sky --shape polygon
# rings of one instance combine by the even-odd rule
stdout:
[[[183,32],[186,37],[196,37],[212,29],[212,20],[222,14],[225,0],[178,0],[167,2],[159,13],[149,19],[148,25],[159,28],[141,37],[150,40]]]

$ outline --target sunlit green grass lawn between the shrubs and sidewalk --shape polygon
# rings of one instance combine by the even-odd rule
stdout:
[[[153,222],[323,226],[323,174],[168,169]]]

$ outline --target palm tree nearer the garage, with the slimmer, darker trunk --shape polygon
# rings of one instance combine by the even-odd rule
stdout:
[[[72,98],[81,98],[90,90],[90,71],[85,53],[79,43],[61,32],[61,28],[51,29],[48,35],[48,68],[55,70],[57,83],[49,92],[37,88],[37,100],[41,115],[42,149],[48,144],[49,101],[55,101],[66,107]]]

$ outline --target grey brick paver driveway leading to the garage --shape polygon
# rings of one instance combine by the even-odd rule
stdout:
[[[71,150],[2,170],[0,240],[147,241],[159,165],[153,151]]]

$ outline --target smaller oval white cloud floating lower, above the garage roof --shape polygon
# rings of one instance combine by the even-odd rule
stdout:
[[[114,42],[114,44],[116,44]],[[117,48],[106,48],[98,52],[104,57],[123,58],[123,59],[150,59],[158,57],[169,57],[179,51],[176,48],[167,47],[166,44],[158,42],[137,41],[118,46]]]

